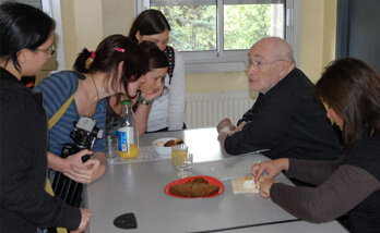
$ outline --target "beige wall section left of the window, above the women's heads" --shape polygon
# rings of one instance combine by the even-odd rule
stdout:
[[[111,34],[128,34],[134,19],[132,0],[61,0],[66,69],[84,47],[95,50]]]

